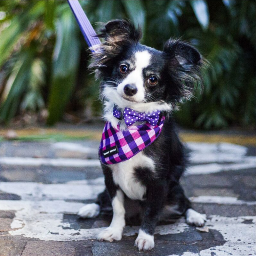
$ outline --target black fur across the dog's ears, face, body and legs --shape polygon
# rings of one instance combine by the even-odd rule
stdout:
[[[170,39],[164,44],[163,51],[141,45],[140,29],[126,20],[108,22],[101,30],[100,37],[103,42],[94,48],[90,68],[102,79],[101,91],[105,86],[116,88],[127,76],[119,72],[120,65],[126,64],[129,72],[132,72],[134,53],[142,51],[151,54],[150,65],[142,71],[146,92],[144,102],[167,103],[173,110],[184,98],[192,96],[196,84],[202,85],[200,68],[204,61],[200,53],[188,43]],[[148,84],[148,77],[152,74],[158,78],[156,86]],[[103,100],[107,99],[103,96]],[[144,155],[154,160],[155,170],[144,166],[136,166],[133,170],[134,182],[146,187],[144,200],[140,202],[143,209],[141,229],[150,235],[154,234],[164,205],[178,205],[176,211],[179,215],[191,208],[179,184],[186,168],[187,156],[175,131],[171,112],[162,112],[162,115],[166,119],[160,136],[143,150]],[[109,210],[111,200],[117,189],[121,188],[115,184],[111,168],[102,165],[102,169],[107,190],[100,194],[98,204],[103,211]],[[131,199],[126,197],[126,200]]]

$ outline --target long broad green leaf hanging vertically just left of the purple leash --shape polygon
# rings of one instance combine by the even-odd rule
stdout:
[[[47,119],[50,125],[60,120],[75,88],[80,54],[75,22],[73,13],[67,10],[56,23],[57,35],[52,58],[52,83]]]

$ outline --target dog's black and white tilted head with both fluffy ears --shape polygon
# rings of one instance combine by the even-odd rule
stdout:
[[[158,51],[140,44],[140,28],[126,20],[108,22],[99,37],[90,67],[102,79],[103,98],[120,108],[170,111],[202,84],[201,55],[188,43],[170,39]]]

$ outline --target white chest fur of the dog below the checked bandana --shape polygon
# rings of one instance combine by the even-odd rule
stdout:
[[[151,158],[140,151],[132,158],[118,164],[111,164],[109,167],[112,169],[115,184],[124,191],[126,196],[133,200],[143,200],[146,187],[135,179],[134,168],[148,167],[151,172],[154,172],[154,161]]]

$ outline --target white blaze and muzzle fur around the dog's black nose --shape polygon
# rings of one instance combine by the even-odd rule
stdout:
[[[117,86],[117,93],[126,97],[124,94],[124,86],[126,84],[135,84],[138,92],[133,95],[131,100],[140,102],[145,98],[145,88],[144,88],[144,77],[142,74],[143,68],[148,67],[150,63],[151,54],[148,51],[136,52],[135,53],[135,69],[122,81],[121,84]]]

